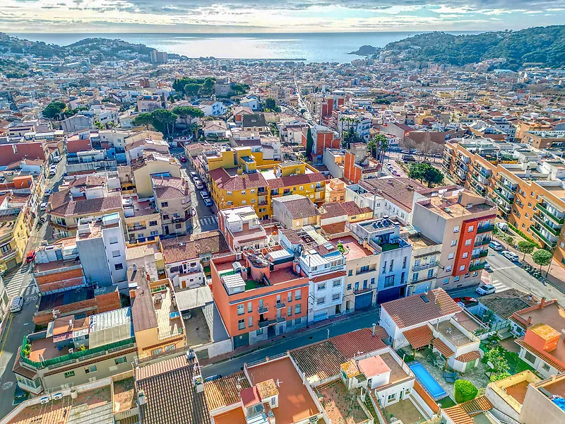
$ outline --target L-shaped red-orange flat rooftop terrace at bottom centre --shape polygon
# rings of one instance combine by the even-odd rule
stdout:
[[[302,384],[290,358],[262,363],[248,370],[251,381],[257,384],[268,379],[280,382],[278,387],[278,408],[273,408],[277,424],[292,424],[319,413],[309,391]]]

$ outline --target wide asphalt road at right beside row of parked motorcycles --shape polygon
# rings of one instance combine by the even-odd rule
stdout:
[[[496,286],[496,291],[506,290],[506,288],[516,288],[526,293],[533,293],[538,298],[557,299],[561,305],[565,305],[565,295],[550,284],[538,281],[520,266],[506,259],[498,252],[489,248],[487,262],[491,266],[489,279]],[[470,296],[477,297],[475,293],[477,286],[467,288],[457,288],[449,290],[453,297]]]

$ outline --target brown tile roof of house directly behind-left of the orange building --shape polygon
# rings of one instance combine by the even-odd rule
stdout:
[[[196,259],[200,254],[230,252],[224,235],[218,230],[161,240],[161,247],[165,264]]]

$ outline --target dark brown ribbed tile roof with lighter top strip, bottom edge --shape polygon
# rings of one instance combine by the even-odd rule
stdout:
[[[194,387],[194,365],[182,355],[136,369],[136,389],[147,400],[141,422],[211,424],[206,396]]]

